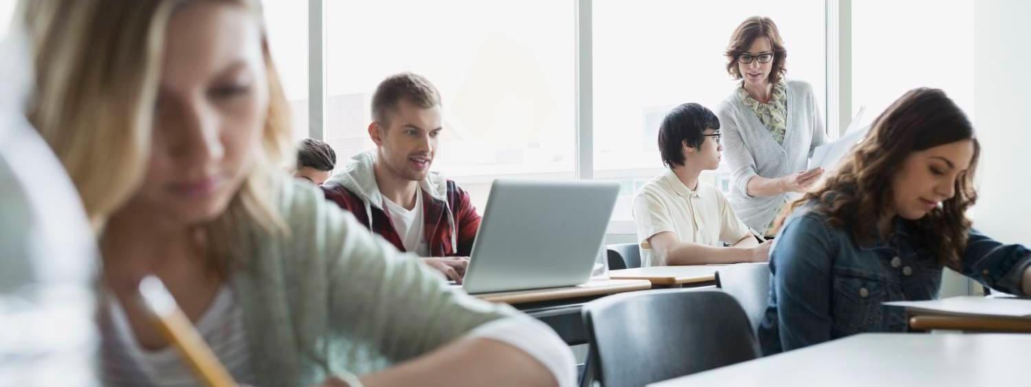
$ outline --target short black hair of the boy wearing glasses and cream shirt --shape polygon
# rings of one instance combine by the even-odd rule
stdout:
[[[694,102],[673,107],[659,126],[659,153],[663,165],[670,168],[684,165],[681,144],[701,147],[705,129],[720,129],[720,119],[712,110]]]

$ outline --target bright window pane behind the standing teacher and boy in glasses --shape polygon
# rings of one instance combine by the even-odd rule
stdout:
[[[623,185],[613,220],[631,220],[633,192],[662,171],[657,139],[666,112],[686,102],[714,111],[737,87],[723,53],[752,15],[776,23],[788,77],[811,84],[824,108],[824,0],[594,2],[594,176]],[[724,167],[703,179],[730,188]]]

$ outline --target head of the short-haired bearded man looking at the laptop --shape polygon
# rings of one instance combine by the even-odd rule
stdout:
[[[410,72],[391,75],[372,96],[372,120],[376,163],[402,179],[425,179],[443,129],[437,89]]]

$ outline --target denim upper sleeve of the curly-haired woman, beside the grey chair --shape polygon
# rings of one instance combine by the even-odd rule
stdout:
[[[801,216],[785,225],[770,253],[777,326],[784,351],[831,338],[835,241],[827,225]]]

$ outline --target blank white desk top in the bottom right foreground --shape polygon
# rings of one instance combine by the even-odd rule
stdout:
[[[676,378],[674,386],[1017,386],[1031,334],[864,333]]]

